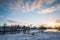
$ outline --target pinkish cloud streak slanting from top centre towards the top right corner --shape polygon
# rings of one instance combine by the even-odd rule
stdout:
[[[41,8],[43,5],[49,5],[56,0],[35,0],[31,5],[31,10],[34,11],[36,9]]]

